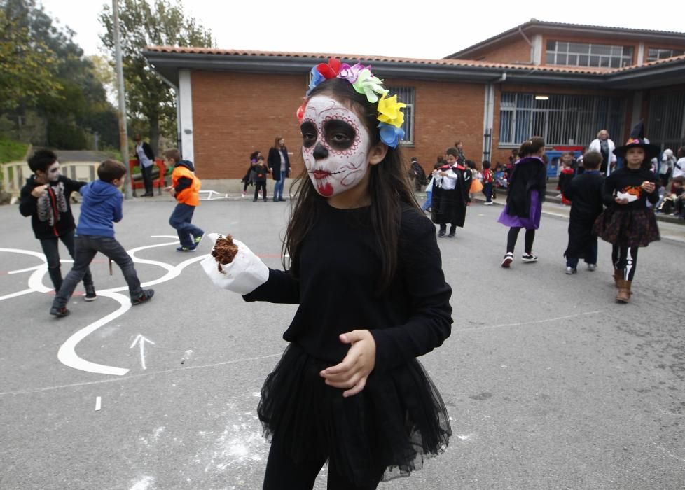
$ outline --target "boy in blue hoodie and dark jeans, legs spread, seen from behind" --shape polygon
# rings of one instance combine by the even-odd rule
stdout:
[[[110,260],[116,262],[124,274],[134,306],[149,300],[155,292],[140,286],[133,260],[127,251],[114,239],[114,223],[123,218],[121,203],[123,196],[118,188],[123,184],[126,167],[115,160],[105,160],[97,167],[99,181],[93,181],[81,188],[83,203],[81,217],[78,218],[76,228],[76,255],[74,267],[64,279],[62,287],[57,292],[50,314],[67,316],[67,302],[78,281],[88,270],[95,254],[100,252]]]

